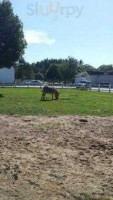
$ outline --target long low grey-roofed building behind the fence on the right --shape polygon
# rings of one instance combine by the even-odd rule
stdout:
[[[87,80],[92,83],[92,85],[99,85],[102,83],[111,84],[113,86],[113,71],[111,72],[82,72],[77,74],[75,78],[75,83]]]

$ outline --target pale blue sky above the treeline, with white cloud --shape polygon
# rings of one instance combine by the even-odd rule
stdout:
[[[113,63],[112,0],[11,0],[24,24],[25,59],[82,59],[98,67]]]

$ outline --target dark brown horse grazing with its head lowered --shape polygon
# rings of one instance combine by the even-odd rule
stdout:
[[[53,100],[53,96],[55,96],[55,99],[58,100],[58,98],[59,98],[58,91],[55,88],[53,88],[53,87],[45,86],[43,88],[43,91],[42,91],[42,100],[43,101],[45,100],[45,96],[46,96],[47,93],[48,94],[52,94],[52,100]]]

